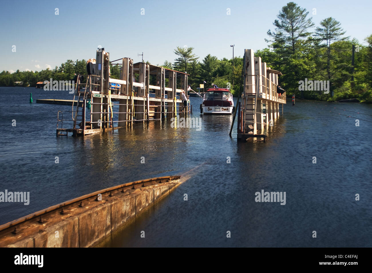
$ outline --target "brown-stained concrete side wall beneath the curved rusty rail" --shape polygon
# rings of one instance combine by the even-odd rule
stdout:
[[[35,219],[29,220],[30,223],[23,229],[25,231],[20,230],[19,234],[11,234],[9,228],[9,232],[0,237],[0,247],[93,246],[109,238],[113,231],[131,222],[178,185],[179,179],[136,189],[128,187],[110,197],[103,194],[102,201],[87,201],[82,208],[76,205],[65,208],[63,215],[54,212],[44,224],[38,225]],[[29,235],[26,235],[27,228],[32,230]]]

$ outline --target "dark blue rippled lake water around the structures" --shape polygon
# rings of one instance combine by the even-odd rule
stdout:
[[[200,131],[156,121],[73,138],[55,136],[57,110],[71,106],[35,103],[72,99],[67,91],[3,87],[0,94],[0,191],[29,191],[31,199],[1,202],[0,224],[103,188],[198,167],[105,246],[372,246],[372,127],[362,120],[372,116],[328,109],[372,115],[372,105],[288,102],[268,143],[238,143],[236,126],[228,135],[232,116],[200,116],[200,98],[190,98]],[[360,126],[338,113],[359,118]],[[262,189],[286,192],[286,204],[255,202]]]

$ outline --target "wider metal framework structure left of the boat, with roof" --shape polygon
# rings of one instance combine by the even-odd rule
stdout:
[[[185,114],[192,112],[188,97],[187,105],[179,97],[181,91],[187,90],[189,74],[144,62],[134,64],[130,58],[115,61],[119,60],[122,61],[120,79],[110,78],[109,52],[103,48],[97,50],[95,72],[77,77],[76,109],[58,111],[57,136],[68,132],[73,136],[84,136],[134,123],[164,120],[177,116],[177,112],[185,107]],[[185,94],[187,96],[187,92]],[[87,114],[88,102],[91,104],[90,115]],[[71,114],[71,119],[63,118]],[[71,127],[65,128],[66,123]]]

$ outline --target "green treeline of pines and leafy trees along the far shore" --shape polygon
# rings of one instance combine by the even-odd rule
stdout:
[[[350,40],[345,36],[341,23],[332,17],[325,18],[319,26],[315,26],[309,12],[294,2],[282,7],[273,25],[275,30],[267,32],[268,48],[257,50],[255,56],[260,56],[270,68],[282,72],[279,84],[287,95],[327,101],[358,98],[361,102],[372,103],[372,35],[366,37],[367,45],[355,39]],[[243,89],[243,58],[234,58],[233,70],[232,59],[218,59],[210,54],[200,59],[193,49],[177,47],[174,62],[165,61],[161,66],[186,71],[190,74],[188,82],[195,91],[204,82],[205,88],[211,87],[212,83],[218,87],[227,87],[230,83],[235,95]],[[120,68],[110,65],[112,78],[120,77]],[[0,73],[0,86],[14,86],[16,81],[22,81],[23,86],[35,86],[36,82],[49,78],[71,80],[74,74],[86,74],[85,60],[67,60],[60,67],[40,72],[17,70],[10,74],[3,71]],[[299,81],[305,79],[329,81],[330,90],[327,94],[325,90],[315,88],[299,90]],[[150,81],[155,79],[150,78]]]

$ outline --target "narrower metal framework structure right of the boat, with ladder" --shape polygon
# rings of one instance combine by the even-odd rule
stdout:
[[[264,140],[267,126],[273,126],[279,118],[279,106],[283,114],[286,92],[278,94],[278,75],[267,67],[261,57],[254,57],[252,49],[244,50],[244,90],[238,106],[238,139]],[[265,112],[265,113],[264,113]]]

